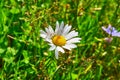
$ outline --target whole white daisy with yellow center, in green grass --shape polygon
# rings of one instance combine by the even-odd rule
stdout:
[[[68,24],[64,26],[64,22],[60,25],[56,22],[56,29],[51,26],[45,28],[45,31],[40,30],[40,36],[49,42],[50,51],[55,50],[55,57],[58,59],[59,52],[65,53],[64,49],[71,50],[76,48],[75,43],[80,42],[81,38],[76,38],[78,32],[70,31],[72,26]]]

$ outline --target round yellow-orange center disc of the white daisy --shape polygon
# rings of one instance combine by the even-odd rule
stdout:
[[[52,38],[52,42],[57,46],[64,46],[66,44],[66,39],[63,36],[56,35]]]

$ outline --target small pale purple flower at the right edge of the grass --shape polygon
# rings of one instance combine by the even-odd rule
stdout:
[[[108,33],[111,36],[116,36],[116,37],[120,37],[120,32],[118,32],[114,27],[112,27],[110,24],[108,26],[108,28],[105,28],[104,26],[102,27],[102,29]]]

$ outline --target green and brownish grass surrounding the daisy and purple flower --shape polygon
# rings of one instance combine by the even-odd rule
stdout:
[[[77,48],[55,59],[39,30],[56,21],[72,25]],[[119,0],[0,0],[0,80],[119,80]]]

